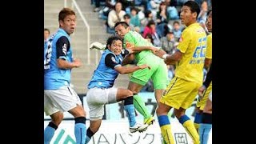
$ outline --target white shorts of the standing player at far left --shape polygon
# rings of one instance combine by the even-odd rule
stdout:
[[[46,115],[58,111],[69,111],[78,105],[82,105],[82,102],[70,86],[62,86],[58,90],[44,90],[44,111]]]

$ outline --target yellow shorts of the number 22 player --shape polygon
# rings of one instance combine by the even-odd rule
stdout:
[[[175,76],[167,86],[160,102],[175,109],[180,107],[187,109],[194,102],[200,86],[202,86],[202,82],[190,82]]]

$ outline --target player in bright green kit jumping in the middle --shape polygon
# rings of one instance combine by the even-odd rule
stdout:
[[[141,34],[130,30],[130,26],[126,22],[117,22],[114,28],[116,34],[123,39],[125,48],[130,47],[128,44],[135,46],[134,54],[127,55],[122,64],[126,65],[134,59],[138,62],[138,65],[146,64],[151,68],[150,70],[137,70],[131,74],[128,86],[128,89],[134,94],[135,109],[143,115],[144,124],[150,126],[150,124],[154,122],[154,117],[151,116],[145,106],[145,102],[138,96],[138,93],[151,78],[154,83],[154,95],[157,102],[159,102],[161,95],[168,84],[167,66],[161,58],[158,58],[152,53],[151,50],[156,49],[153,47],[152,43],[148,42],[145,38],[142,38]]]

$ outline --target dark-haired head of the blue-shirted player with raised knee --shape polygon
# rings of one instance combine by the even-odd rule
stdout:
[[[122,39],[116,36],[112,36],[106,41],[106,49],[109,49],[114,54],[121,54],[122,51]]]

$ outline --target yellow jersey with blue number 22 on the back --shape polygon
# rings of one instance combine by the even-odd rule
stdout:
[[[191,24],[182,31],[177,49],[182,52],[182,59],[176,65],[175,76],[190,82],[202,82],[206,32],[199,23]]]

